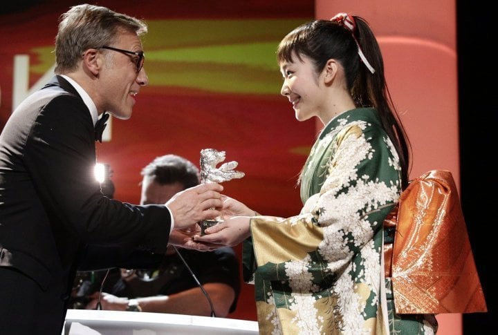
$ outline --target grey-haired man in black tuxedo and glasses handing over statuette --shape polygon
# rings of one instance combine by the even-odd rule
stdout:
[[[142,206],[105,197],[94,178],[98,117],[128,119],[147,85],[145,32],[144,22],[108,8],[72,7],[59,22],[55,77],[3,128],[2,335],[61,334],[78,269],[156,266],[172,229],[189,247],[186,228],[221,215],[219,184]]]

